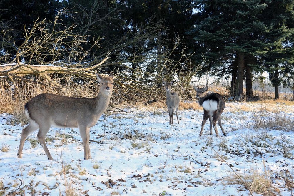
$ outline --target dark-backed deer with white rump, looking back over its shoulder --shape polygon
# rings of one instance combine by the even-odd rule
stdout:
[[[225,132],[220,123],[220,115],[223,113],[223,110],[225,109],[225,100],[223,99],[223,96],[221,96],[218,93],[208,94],[207,84],[206,84],[206,87],[204,88],[197,88],[196,86],[194,86],[194,89],[197,92],[196,97],[199,99],[199,105],[202,106],[204,110],[199,136],[202,135],[203,127],[206,123],[207,118],[209,118],[209,122],[210,122],[209,135],[212,135],[212,125],[213,125],[214,131],[216,132],[216,136],[218,136],[218,129],[216,128],[216,121],[217,121],[218,125],[220,126],[220,129],[223,132],[223,135],[225,136]]]

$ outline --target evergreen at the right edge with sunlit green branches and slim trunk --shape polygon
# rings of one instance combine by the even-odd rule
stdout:
[[[275,99],[278,99],[279,86],[282,82],[290,86],[293,78],[294,1],[269,1],[263,19],[268,30],[262,37],[266,44],[266,52],[261,55],[262,63],[275,87]]]

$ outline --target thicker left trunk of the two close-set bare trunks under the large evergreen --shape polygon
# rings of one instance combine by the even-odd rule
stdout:
[[[243,81],[244,81],[244,53],[238,53],[238,68],[237,68],[237,78],[236,78],[236,88],[234,96],[243,96]]]

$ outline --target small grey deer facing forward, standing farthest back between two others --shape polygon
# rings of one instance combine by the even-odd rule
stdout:
[[[169,113],[169,124],[173,124],[173,112],[176,111],[176,116],[179,123],[178,119],[178,109],[179,109],[179,103],[180,103],[180,98],[177,93],[171,93],[171,85],[173,85],[173,81],[171,82],[166,82],[162,81],[162,83],[165,85],[166,89],[166,105]]]

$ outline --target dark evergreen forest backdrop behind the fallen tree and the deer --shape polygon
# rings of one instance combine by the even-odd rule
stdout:
[[[108,57],[100,71],[132,83],[153,74],[158,87],[174,76],[189,85],[190,73],[209,73],[252,96],[253,78],[268,72],[275,99],[281,85],[294,88],[293,0],[0,0],[0,19],[0,64]]]

